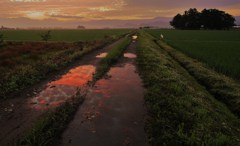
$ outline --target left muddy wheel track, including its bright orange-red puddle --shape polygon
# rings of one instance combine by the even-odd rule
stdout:
[[[0,145],[12,142],[29,129],[44,111],[54,109],[53,107],[74,96],[78,88],[92,79],[92,73],[100,61],[96,56],[108,52],[116,43],[86,54],[74,66],[61,71],[54,81],[43,81],[35,86],[32,93],[23,93],[19,97],[2,101]]]

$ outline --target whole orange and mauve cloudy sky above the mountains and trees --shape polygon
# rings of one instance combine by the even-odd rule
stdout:
[[[153,19],[173,17],[192,7],[217,8],[240,16],[240,0],[0,0],[0,25],[11,19],[31,22]]]

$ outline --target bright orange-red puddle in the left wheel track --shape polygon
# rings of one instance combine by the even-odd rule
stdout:
[[[59,80],[48,83],[47,88],[31,99],[33,108],[44,109],[55,107],[74,97],[79,88],[92,80],[95,67],[92,65],[79,66],[71,69]]]

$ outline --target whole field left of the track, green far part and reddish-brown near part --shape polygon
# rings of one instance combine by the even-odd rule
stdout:
[[[61,69],[85,53],[106,46],[130,29],[52,30],[48,42],[40,34],[47,30],[5,30],[0,48],[0,97],[21,91]]]

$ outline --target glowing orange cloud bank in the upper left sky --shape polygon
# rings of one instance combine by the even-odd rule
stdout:
[[[31,19],[71,18],[95,19],[102,12],[122,9],[124,0],[5,0],[0,3],[2,17],[26,17]],[[12,10],[14,9],[14,12]],[[60,16],[60,17],[59,17]],[[104,16],[107,18],[107,16]]]

